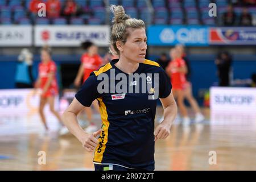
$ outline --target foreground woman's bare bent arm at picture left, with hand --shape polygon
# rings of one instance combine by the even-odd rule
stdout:
[[[101,133],[101,130],[98,130],[93,134],[85,133],[77,121],[77,114],[79,114],[84,108],[85,106],[80,104],[80,102],[74,98],[69,107],[63,113],[63,122],[64,125],[67,126],[68,130],[75,135],[77,139],[79,139],[85,150],[93,152],[98,144],[96,136]]]

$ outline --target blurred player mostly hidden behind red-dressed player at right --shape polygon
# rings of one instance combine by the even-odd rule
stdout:
[[[187,73],[185,74],[186,82],[184,84],[184,90],[183,90],[184,97],[189,102],[193,111],[195,112],[195,122],[201,122],[204,120],[204,115],[201,114],[199,105],[197,104],[197,101],[195,100],[195,98],[193,97],[193,94],[192,94],[192,84],[190,82],[191,67],[190,67],[189,61],[186,57],[184,46],[181,44],[178,44],[175,48],[177,49],[177,52],[179,53],[179,57],[181,57],[185,61],[185,64],[187,66]]]

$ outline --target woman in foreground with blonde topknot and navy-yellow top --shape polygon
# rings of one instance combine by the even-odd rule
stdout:
[[[112,60],[90,74],[64,111],[64,123],[86,151],[95,150],[96,170],[153,170],[155,141],[168,137],[177,113],[171,82],[158,63],[145,60],[147,37],[144,22],[130,18],[122,6],[112,5],[110,9],[114,13],[111,44],[119,59]],[[106,92],[101,92],[100,77],[111,74],[122,76],[123,87],[133,90],[139,88],[139,92],[125,89],[121,93],[117,90],[109,92],[111,84],[106,84]],[[144,75],[141,79],[144,84],[134,79],[127,82],[127,77],[136,78],[136,75]],[[110,81],[114,81],[115,88],[120,84],[119,78]],[[141,92],[143,86],[150,89]],[[156,93],[164,108],[164,121],[154,130]],[[93,134],[87,134],[77,123],[77,114],[95,99],[100,105],[102,127]],[[98,134],[100,137],[96,138]]]

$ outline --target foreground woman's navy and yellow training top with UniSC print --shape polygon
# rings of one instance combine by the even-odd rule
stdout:
[[[131,74],[115,67],[117,61],[112,60],[92,72],[75,96],[87,107],[95,99],[99,103],[102,133],[94,152],[94,163],[154,170],[156,99],[169,96],[172,88],[170,79],[158,63],[144,60],[132,75],[138,73],[146,76],[139,78],[141,81],[136,78],[128,80]],[[122,80],[120,75],[126,76],[127,81]],[[108,84],[102,84],[103,78],[108,80]],[[122,83],[125,86],[120,87],[121,81],[124,81]],[[149,88],[146,92],[143,91],[145,86]],[[122,93],[115,89],[119,87],[123,89]],[[136,87],[139,88],[137,92]]]

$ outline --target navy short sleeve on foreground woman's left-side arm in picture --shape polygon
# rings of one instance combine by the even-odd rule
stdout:
[[[94,73],[91,73],[87,80],[82,84],[80,90],[75,95],[77,101],[82,105],[89,107],[98,97],[97,79]]]

